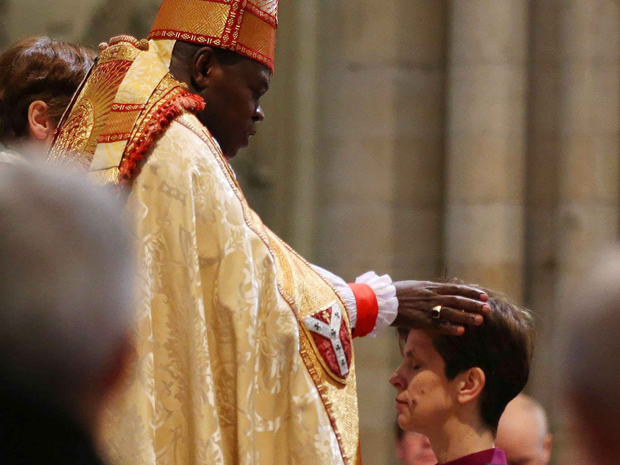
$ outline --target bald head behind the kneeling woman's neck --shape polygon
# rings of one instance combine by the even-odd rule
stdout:
[[[551,459],[547,414],[533,398],[519,394],[508,403],[497,427],[495,445],[508,465],[547,465]]]

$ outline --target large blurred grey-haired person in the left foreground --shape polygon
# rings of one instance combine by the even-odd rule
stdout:
[[[130,361],[135,274],[118,206],[67,173],[0,163],[0,462],[97,465]]]

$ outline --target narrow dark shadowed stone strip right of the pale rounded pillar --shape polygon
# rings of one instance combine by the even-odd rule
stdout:
[[[531,12],[531,68],[529,72],[529,137],[527,170],[527,232],[525,304],[536,313],[538,334],[528,391],[542,403],[550,424],[554,415],[555,386],[551,383],[554,314],[559,277],[560,231],[560,90],[562,38],[561,0],[533,3]],[[555,429],[555,428],[554,428]]]

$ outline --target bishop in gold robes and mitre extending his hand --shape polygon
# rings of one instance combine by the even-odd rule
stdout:
[[[100,46],[51,147],[118,186],[136,223],[143,364],[102,438],[118,463],[359,463],[353,337],[462,334],[489,311],[464,285],[348,285],[250,209],[228,160],[265,118],[277,8],[164,0],[150,40]]]

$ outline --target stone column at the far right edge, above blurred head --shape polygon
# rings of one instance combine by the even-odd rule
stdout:
[[[559,199],[557,211],[557,296],[561,310],[569,290],[578,289],[592,254],[618,240],[620,181],[620,12],[614,0],[564,1],[559,17]],[[537,305],[538,307],[538,305]],[[551,320],[551,321],[550,321]],[[547,345],[552,326],[547,318]],[[587,324],[587,315],[584,315]],[[539,351],[539,363],[554,364]],[[539,383],[549,389],[544,382]],[[543,388],[544,389],[544,388]],[[552,399],[562,411],[559,399]],[[560,420],[561,417],[560,417]],[[565,463],[582,463],[573,441]]]

